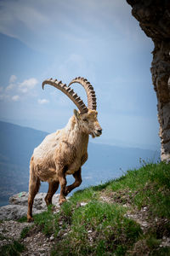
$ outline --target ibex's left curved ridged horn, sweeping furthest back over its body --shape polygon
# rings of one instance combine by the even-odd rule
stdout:
[[[81,98],[77,96],[77,93],[74,92],[70,87],[66,86],[66,84],[62,84],[61,81],[57,81],[57,79],[47,79],[42,82],[42,89],[44,88],[45,84],[53,85],[55,88],[61,90],[65,93],[66,96],[68,96],[72,102],[74,102],[77,105],[77,108],[80,110],[81,113],[87,113],[88,108],[82,102]]]

